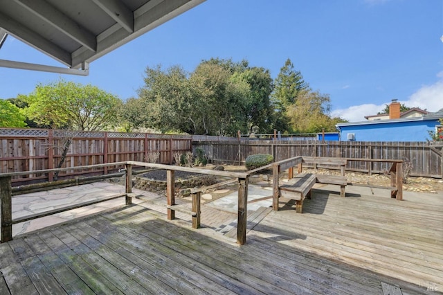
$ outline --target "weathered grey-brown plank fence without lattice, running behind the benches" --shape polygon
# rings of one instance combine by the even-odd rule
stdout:
[[[297,156],[397,159],[412,164],[411,176],[443,177],[442,143],[363,141],[201,141],[193,148],[205,150],[215,163],[243,165],[250,154],[272,154],[275,161]],[[388,163],[348,161],[346,170],[383,173]]]

